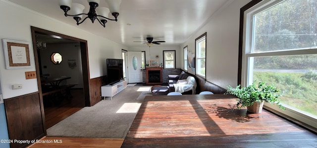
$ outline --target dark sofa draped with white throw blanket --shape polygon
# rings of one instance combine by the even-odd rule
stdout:
[[[196,80],[185,71],[179,75],[168,75],[168,86],[170,92],[179,92],[183,95],[196,94]]]

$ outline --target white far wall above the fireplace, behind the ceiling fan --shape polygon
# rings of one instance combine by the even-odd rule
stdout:
[[[149,63],[149,60],[157,60],[156,56],[159,55],[159,64],[163,63],[163,50],[175,50],[175,56],[176,56],[176,68],[180,68],[181,66],[181,58],[180,58],[180,47],[179,46],[155,46],[149,47],[147,45],[144,45],[142,47],[133,47],[129,48],[128,51],[145,51],[145,58],[146,58],[146,63]]]

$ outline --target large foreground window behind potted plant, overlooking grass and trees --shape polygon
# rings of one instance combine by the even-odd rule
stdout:
[[[262,0],[244,12],[242,85],[281,90],[282,113],[317,122],[317,0]],[[269,106],[270,107],[270,106]]]

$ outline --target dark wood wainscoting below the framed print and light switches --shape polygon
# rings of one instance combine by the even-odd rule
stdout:
[[[4,99],[10,140],[34,140],[46,135],[40,102],[39,93]],[[27,145],[11,143],[10,148],[24,148]]]

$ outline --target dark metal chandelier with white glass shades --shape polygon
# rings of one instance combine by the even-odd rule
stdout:
[[[107,20],[118,21],[117,17],[119,15],[119,7],[121,0],[105,0],[109,8],[98,7],[100,0],[87,0],[90,9],[88,13],[83,13],[85,6],[80,3],[72,3],[72,0],[59,0],[60,8],[65,12],[65,16],[73,16],[76,20],[77,25],[83,23],[87,18],[89,18],[92,23],[97,19],[99,23],[106,27]],[[98,7],[98,8],[97,8]],[[69,10],[70,14],[67,14]],[[108,18],[108,14],[111,12],[114,19]],[[87,15],[82,21],[80,21],[83,15]]]

